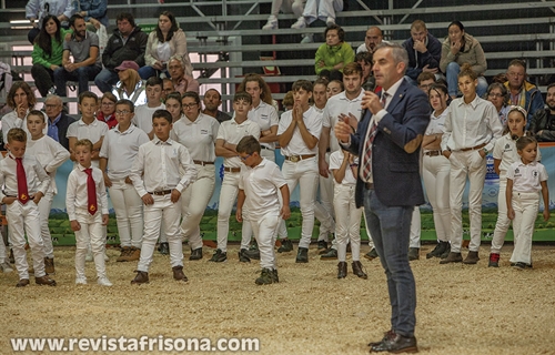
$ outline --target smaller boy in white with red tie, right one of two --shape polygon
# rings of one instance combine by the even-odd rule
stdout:
[[[78,165],[68,176],[65,209],[75,232],[75,284],[87,284],[84,262],[89,244],[97,266],[98,284],[111,286],[104,264],[104,236],[108,224],[108,197],[100,169],[92,166],[92,142],[79,140],[73,145]]]

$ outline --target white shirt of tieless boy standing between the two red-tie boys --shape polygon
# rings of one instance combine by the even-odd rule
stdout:
[[[27,142],[26,153],[37,158],[41,166],[50,175],[51,182],[49,191],[57,194],[58,189],[56,187],[56,170],[70,159],[68,150],[52,138],[43,135],[37,141],[29,140]]]

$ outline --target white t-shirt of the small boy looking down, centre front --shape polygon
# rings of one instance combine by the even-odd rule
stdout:
[[[274,162],[262,159],[262,162],[250,168],[241,168],[239,189],[245,193],[245,205],[252,221],[260,221],[264,215],[280,214],[279,190],[287,182]]]

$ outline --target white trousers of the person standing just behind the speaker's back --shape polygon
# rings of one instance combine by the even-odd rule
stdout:
[[[422,179],[434,214],[435,234],[442,242],[450,241],[450,172],[451,163],[445,156],[423,158]]]

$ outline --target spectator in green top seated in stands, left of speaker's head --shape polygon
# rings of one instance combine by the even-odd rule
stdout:
[[[345,42],[345,31],[336,24],[331,24],[324,31],[325,43],[320,45],[315,57],[315,71],[320,77],[330,80],[341,79],[343,68],[354,62],[354,51]]]

